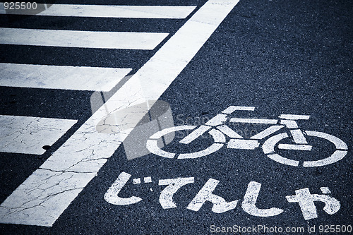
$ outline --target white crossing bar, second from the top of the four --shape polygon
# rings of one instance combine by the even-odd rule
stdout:
[[[0,28],[0,44],[106,49],[154,49],[168,33]]]

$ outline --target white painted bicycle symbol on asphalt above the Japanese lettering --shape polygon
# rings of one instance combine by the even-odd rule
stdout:
[[[345,142],[340,140],[340,138],[319,131],[304,131],[299,129],[297,121],[308,120],[310,117],[309,115],[281,114],[279,116],[279,119],[240,119],[232,118],[229,116],[229,114],[232,114],[237,110],[253,111],[254,109],[254,107],[230,106],[224,111],[222,111],[220,114],[214,116],[212,119],[210,119],[210,121],[206,122],[205,124],[199,127],[186,125],[165,128],[162,131],[158,131],[157,133],[150,136],[150,138],[147,140],[146,147],[150,152],[155,155],[159,155],[160,157],[177,159],[192,159],[210,155],[211,153],[220,150],[220,148],[223,147],[225,144],[227,144],[227,148],[239,150],[255,150],[257,147],[261,147],[265,155],[270,159],[273,159],[275,162],[279,162],[281,164],[286,164],[289,166],[299,167],[299,161],[283,157],[280,154],[276,153],[276,151],[277,149],[311,151],[313,146],[309,145],[309,143],[307,142],[307,135],[317,138],[323,138],[325,140],[330,141],[331,143],[333,143],[333,145],[335,145],[335,151],[332,155],[324,159],[304,161],[303,167],[325,166],[337,162],[343,157],[345,157],[345,155],[347,155],[347,145]],[[253,135],[250,138],[246,139],[234,130],[232,130],[232,128],[225,125],[227,121],[229,121],[230,123],[263,123],[273,125],[266,128],[264,131],[256,133],[256,135]],[[205,148],[204,150],[191,153],[166,152],[162,150],[162,148],[158,147],[157,141],[164,135],[183,130],[193,131],[189,135],[186,135],[185,138],[181,139],[179,143],[187,145],[206,132],[208,132],[213,137],[214,143],[209,147]],[[280,130],[286,131],[282,133],[277,133],[280,132]],[[277,134],[273,135],[274,133]],[[226,139],[226,136],[229,140]],[[286,141],[286,143],[280,143],[285,142],[282,140],[287,140],[288,138],[292,141],[289,143],[288,141]],[[260,140],[265,140],[265,142],[261,145]]]

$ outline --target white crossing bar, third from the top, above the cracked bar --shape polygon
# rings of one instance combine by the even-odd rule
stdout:
[[[0,63],[0,85],[18,88],[109,91],[131,68]]]

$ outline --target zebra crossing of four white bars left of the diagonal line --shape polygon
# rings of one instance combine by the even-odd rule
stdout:
[[[39,4],[40,6],[44,4]],[[4,7],[1,3],[0,7]],[[46,7],[47,8],[47,7]],[[65,17],[94,17],[100,18],[186,18],[196,8],[196,6],[103,6],[103,5],[69,5],[53,4],[46,11],[37,13],[37,16],[65,16]],[[30,14],[30,11],[16,11],[16,14]],[[6,14],[6,11],[0,11]],[[133,49],[152,50],[157,47],[162,40],[167,37],[167,32],[101,32],[83,30],[43,30],[26,28],[0,28],[0,44],[31,45],[44,47],[79,47],[96,49]],[[56,48],[57,49],[57,48]],[[131,68],[107,68],[92,66],[57,66],[41,64],[12,64],[0,63],[0,85],[14,88],[40,88],[40,89],[62,89],[62,90],[92,90],[108,92],[119,83]],[[35,117],[21,116],[11,123],[8,123],[7,116],[1,116],[1,121],[8,130],[18,130],[16,132],[23,141],[21,145],[32,147],[34,150],[25,150],[14,144],[12,135],[8,131],[2,131],[0,150],[2,152],[19,152],[42,154],[43,143],[35,135],[20,133],[21,126],[27,129],[44,128],[46,126],[53,133],[56,128],[51,126],[51,119],[40,119],[44,126],[37,126],[37,122],[32,122]],[[11,119],[13,120],[13,119]],[[45,123],[47,120],[47,123]],[[71,126],[64,125],[65,119],[55,119],[61,122],[66,128],[59,133],[68,131]],[[6,122],[7,121],[7,122]],[[31,126],[31,123],[32,126]],[[34,131],[34,130],[32,130]],[[11,131],[10,131],[11,132]],[[12,132],[11,132],[12,133]],[[55,140],[59,135],[55,133]],[[16,142],[15,142],[16,143]],[[27,143],[27,144],[26,144]],[[51,144],[47,145],[51,145]],[[11,146],[11,147],[9,147]],[[16,147],[17,146],[17,147]],[[22,150],[20,150],[22,149]],[[36,150],[35,150],[36,149]]]

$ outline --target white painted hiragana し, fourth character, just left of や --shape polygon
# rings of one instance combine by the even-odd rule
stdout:
[[[258,200],[258,193],[260,193],[261,183],[251,181],[246,189],[243,203],[241,208],[249,215],[258,217],[270,217],[280,215],[283,210],[280,208],[272,207],[270,209],[259,209],[256,207],[256,201]]]

